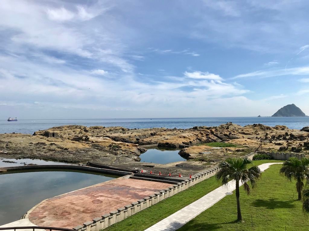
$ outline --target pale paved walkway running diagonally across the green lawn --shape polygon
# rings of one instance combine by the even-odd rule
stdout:
[[[282,164],[282,162],[261,164],[259,165],[259,168],[262,172],[264,172],[272,164]],[[242,184],[239,183],[239,185]],[[228,186],[216,188],[214,191],[211,191],[204,197],[194,201],[192,204],[180,209],[162,221],[159,221],[145,231],[173,231],[179,229],[188,221],[192,220],[194,217],[220,201],[223,197],[230,195],[235,189],[235,180],[232,180],[229,182]]]

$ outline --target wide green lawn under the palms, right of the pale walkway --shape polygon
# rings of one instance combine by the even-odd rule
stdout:
[[[255,161],[256,164],[261,162],[265,163],[264,160]],[[232,194],[178,230],[309,230],[309,218],[302,213],[302,202],[297,201],[295,182],[291,183],[280,176],[280,168],[281,164],[275,164],[263,172],[251,195],[240,191],[244,223],[235,222],[236,198]]]

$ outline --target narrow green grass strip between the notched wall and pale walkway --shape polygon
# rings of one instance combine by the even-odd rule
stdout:
[[[277,160],[276,160],[277,161]],[[268,162],[276,162],[274,160],[257,160],[255,164],[263,164]],[[277,161],[280,162],[280,161]],[[179,209],[191,204],[197,199],[203,197],[205,194],[221,186],[214,177],[210,177],[207,180],[186,189],[183,192],[167,198],[159,203],[144,209],[143,211],[134,214],[131,217],[126,218],[110,227],[104,229],[107,231],[143,231],[155,223],[161,221],[165,217],[177,212]],[[201,229],[202,230],[202,229]]]

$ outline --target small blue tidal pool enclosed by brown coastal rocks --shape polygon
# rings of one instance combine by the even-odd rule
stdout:
[[[147,152],[142,153],[139,157],[141,162],[155,163],[155,164],[168,164],[172,162],[185,161],[178,152],[179,149],[173,148],[147,148]]]

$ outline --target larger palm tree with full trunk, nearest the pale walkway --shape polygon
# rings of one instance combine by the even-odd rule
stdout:
[[[248,168],[248,165],[253,164],[252,160],[247,157],[227,158],[220,162],[219,171],[216,173],[216,179],[222,181],[222,185],[227,185],[229,181],[236,181],[236,201],[237,201],[237,221],[242,221],[239,203],[239,181],[243,183],[243,188],[250,194],[250,187],[247,181],[250,181],[252,188],[256,186],[256,181],[261,176],[261,170],[257,166]]]

